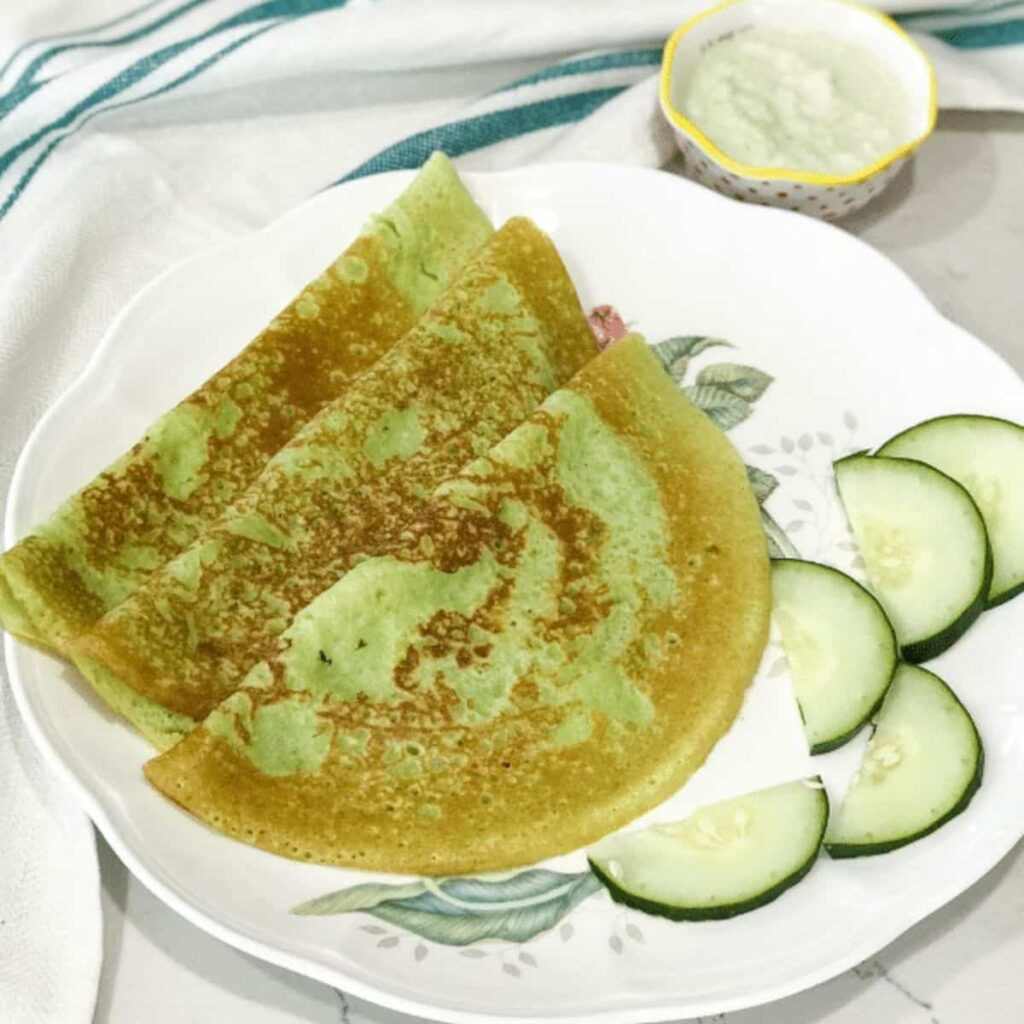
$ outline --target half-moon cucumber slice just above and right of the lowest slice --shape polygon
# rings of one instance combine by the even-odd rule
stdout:
[[[901,665],[825,849],[833,857],[863,857],[935,831],[971,803],[984,760],[956,694],[927,669]]]

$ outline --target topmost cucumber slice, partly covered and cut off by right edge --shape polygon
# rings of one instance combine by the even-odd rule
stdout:
[[[940,416],[878,454],[927,462],[971,493],[992,546],[989,608],[1024,591],[1024,427],[991,416]]]

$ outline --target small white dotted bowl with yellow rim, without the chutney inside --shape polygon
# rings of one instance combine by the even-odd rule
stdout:
[[[723,153],[676,105],[686,76],[707,47],[752,28],[820,32],[872,53],[906,96],[906,138],[853,174],[751,167]],[[935,73],[921,47],[895,23],[848,0],[726,0],[680,26],[662,57],[662,112],[682,151],[687,174],[733,199],[834,220],[873,199],[935,127]]]

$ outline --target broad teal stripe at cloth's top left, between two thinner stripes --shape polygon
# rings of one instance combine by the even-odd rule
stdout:
[[[243,11],[232,14],[230,17],[224,18],[205,32],[163,46],[159,50],[140,57],[134,63],[119,72],[114,78],[109,79],[102,85],[93,89],[84,99],[66,111],[55,121],[44,125],[31,135],[23,138],[22,141],[12,145],[5,153],[0,154],[0,174],[3,174],[22,154],[31,150],[37,142],[42,141],[53,132],[68,128],[83,114],[88,113],[97,106],[97,104],[108,99],[113,99],[126,89],[131,88],[155,71],[158,71],[169,60],[172,60],[198,43],[205,42],[207,39],[211,39],[229,29],[251,25],[254,22],[269,20],[275,25],[283,22],[292,22],[317,11],[343,7],[345,3],[347,3],[347,0],[264,0],[263,3],[248,7]]]

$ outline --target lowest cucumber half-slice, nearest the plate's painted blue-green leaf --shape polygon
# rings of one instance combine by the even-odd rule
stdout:
[[[800,779],[610,836],[588,857],[618,903],[673,921],[717,921],[795,886],[813,867],[827,821],[821,779]]]

